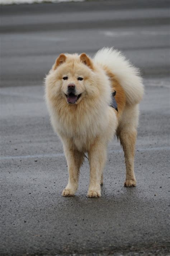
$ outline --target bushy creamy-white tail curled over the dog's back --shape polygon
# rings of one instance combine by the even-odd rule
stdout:
[[[94,62],[109,68],[115,75],[125,91],[128,105],[140,103],[144,88],[139,70],[132,66],[120,51],[103,48],[94,56]]]

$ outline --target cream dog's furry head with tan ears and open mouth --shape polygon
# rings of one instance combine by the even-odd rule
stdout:
[[[98,94],[93,61],[85,53],[60,54],[46,81],[53,96],[60,96],[68,104],[79,104],[86,96]]]

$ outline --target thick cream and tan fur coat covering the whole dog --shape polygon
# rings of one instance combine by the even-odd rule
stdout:
[[[64,76],[68,80],[64,81]],[[77,80],[79,76],[82,81]],[[75,84],[77,95],[81,94],[75,104],[68,104],[66,100],[69,83]],[[137,103],[143,95],[137,70],[112,49],[100,50],[94,60],[85,54],[61,54],[49,71],[45,84],[51,123],[63,142],[69,169],[69,182],[62,195],[74,196],[79,169],[88,152],[88,196],[101,196],[107,144],[116,133],[125,154],[125,185],[136,185],[134,146],[138,124]],[[116,95],[119,113],[110,107],[113,90],[119,92]]]

